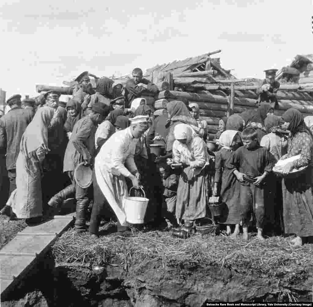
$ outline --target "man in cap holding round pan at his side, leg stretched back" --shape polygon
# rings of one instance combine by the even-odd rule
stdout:
[[[67,172],[72,185],[54,195],[48,202],[49,206],[59,208],[64,199],[74,194],[76,198],[75,228],[78,231],[86,230],[85,213],[89,204],[90,189],[82,188],[77,184],[74,178],[74,171],[82,161],[85,161],[85,164],[89,166],[94,164],[96,127],[105,119],[109,112],[110,108],[107,105],[95,103],[90,113],[76,122],[66,147],[63,167],[63,171]]]

